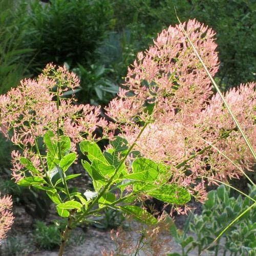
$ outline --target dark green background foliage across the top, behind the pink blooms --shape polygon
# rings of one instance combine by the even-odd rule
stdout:
[[[216,31],[221,62],[217,80],[223,90],[255,80],[255,1],[49,2],[0,0],[0,94],[24,77],[35,77],[48,62],[66,62],[81,79],[79,102],[105,105],[137,52],[151,45],[163,28],[177,24],[173,6],[182,21],[196,18]],[[1,145],[1,166],[10,167],[11,146],[3,139]],[[16,201],[25,202],[24,195],[20,191]],[[41,209],[45,199],[33,197]]]

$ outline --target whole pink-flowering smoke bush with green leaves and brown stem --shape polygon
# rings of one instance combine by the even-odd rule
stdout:
[[[79,87],[77,77],[52,64],[37,79],[26,79],[0,96],[1,132],[19,147],[12,152],[13,178],[21,186],[44,190],[67,218],[59,255],[72,228],[107,208],[158,225],[154,210],[143,207],[146,199],[185,213],[191,196],[206,200],[208,183],[239,178],[251,168],[255,83],[225,94],[234,123],[210,87],[209,76],[219,65],[214,35],[196,20],[163,30],[154,46],[138,53],[123,88],[105,108],[108,118],[98,106],[77,104],[72,95]],[[108,142],[104,150],[100,140]],[[78,147],[92,191],[74,192],[69,185],[83,175],[69,173],[78,161]]]

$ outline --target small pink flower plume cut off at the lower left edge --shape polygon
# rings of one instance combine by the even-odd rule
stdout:
[[[10,196],[0,195],[0,243],[6,238],[7,231],[11,228],[14,217],[11,212],[12,199]]]

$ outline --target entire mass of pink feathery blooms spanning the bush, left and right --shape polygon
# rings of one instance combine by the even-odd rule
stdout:
[[[73,96],[67,96],[79,83],[65,67],[48,65],[37,80],[24,80],[0,96],[0,130],[23,150],[12,152],[16,181],[24,176],[22,156],[42,170],[35,145],[46,131],[69,136],[75,151],[76,143],[83,138],[95,138],[97,127],[102,127],[103,135],[110,139],[118,129],[130,144],[136,141],[135,149],[143,157],[169,166],[170,183],[186,187],[199,201],[206,199],[207,182],[202,177],[211,182],[241,175],[241,169],[223,154],[250,168],[254,160],[221,98],[212,92],[182,26],[211,75],[217,72],[214,31],[196,20],[170,26],[158,35],[154,46],[138,53],[128,69],[118,97],[105,108],[110,122],[100,117],[99,107],[77,104]],[[255,83],[242,84],[225,94],[253,146],[255,96]]]

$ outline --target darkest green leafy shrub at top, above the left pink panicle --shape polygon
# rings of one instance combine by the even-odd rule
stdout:
[[[45,5],[36,0],[29,8],[26,46],[36,52],[34,72],[49,62],[66,61],[74,68],[95,60],[94,50],[112,17],[108,0],[51,0]]]

